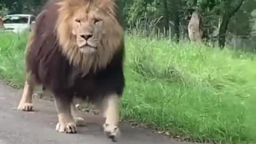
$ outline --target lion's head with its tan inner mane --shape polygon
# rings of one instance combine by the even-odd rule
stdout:
[[[56,30],[63,54],[86,71],[106,67],[124,42],[116,0],[61,0],[57,4]]]

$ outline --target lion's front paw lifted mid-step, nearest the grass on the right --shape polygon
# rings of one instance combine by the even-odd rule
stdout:
[[[117,139],[120,138],[121,132],[119,128],[115,125],[104,124],[104,133],[111,138],[113,142],[117,142]]]

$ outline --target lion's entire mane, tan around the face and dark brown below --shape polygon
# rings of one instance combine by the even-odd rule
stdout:
[[[72,37],[77,8],[93,3],[116,25],[105,26],[97,54],[79,52]],[[113,30],[115,29],[115,30]],[[36,18],[26,48],[26,72],[55,93],[99,98],[124,88],[124,32],[115,0],[50,0]],[[89,99],[90,99],[89,98]]]

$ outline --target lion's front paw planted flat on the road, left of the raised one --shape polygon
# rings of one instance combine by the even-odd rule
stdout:
[[[65,133],[76,133],[76,124],[74,122],[58,122],[56,125],[56,131]]]

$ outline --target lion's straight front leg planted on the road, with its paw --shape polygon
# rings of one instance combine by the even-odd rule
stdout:
[[[76,133],[76,123],[71,115],[72,97],[69,98],[66,94],[54,94],[54,100],[58,112],[56,131]]]

